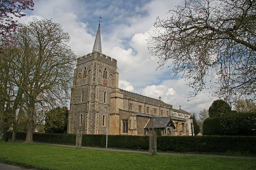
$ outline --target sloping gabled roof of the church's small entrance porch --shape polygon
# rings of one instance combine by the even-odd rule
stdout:
[[[172,126],[175,129],[174,123],[171,117],[152,117],[148,124],[144,127],[145,129],[162,129],[167,126]]]

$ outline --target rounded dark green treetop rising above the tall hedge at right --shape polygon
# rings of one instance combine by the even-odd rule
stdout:
[[[230,105],[224,100],[215,100],[209,107],[209,116],[225,115],[231,112]]]

